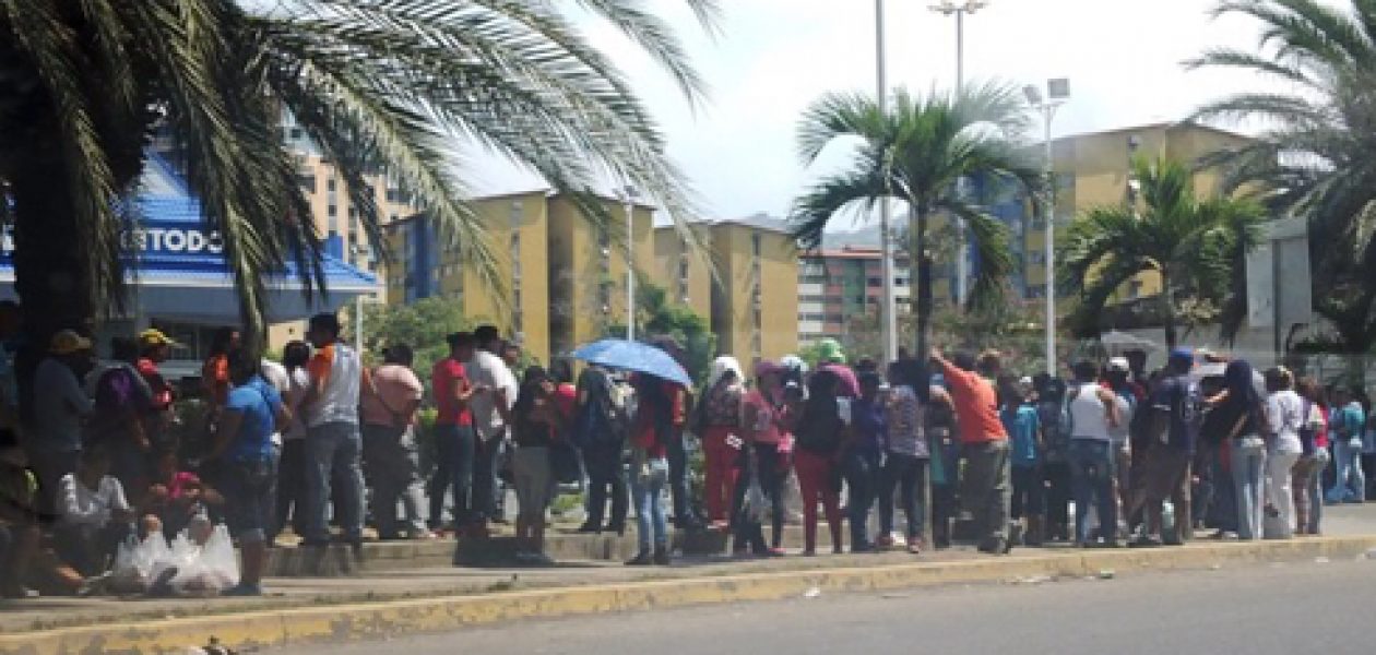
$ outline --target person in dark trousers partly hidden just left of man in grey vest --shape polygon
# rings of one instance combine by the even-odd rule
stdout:
[[[268,545],[277,544],[277,537],[292,522],[292,533],[305,534],[305,422],[301,420],[301,400],[311,385],[305,366],[311,361],[311,347],[305,341],[288,341],[282,347],[282,369],[286,370],[286,391],[281,392],[282,403],[292,417],[286,425],[279,425],[282,451],[277,461],[277,486],[274,494],[272,523],[268,526]]]

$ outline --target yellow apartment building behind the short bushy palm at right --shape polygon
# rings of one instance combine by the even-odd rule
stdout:
[[[1237,147],[1248,140],[1247,136],[1194,122],[1159,122],[1055,139],[1053,161],[1057,173],[1057,227],[1065,228],[1087,209],[1126,202],[1132,193],[1134,157],[1165,157],[1192,164],[1207,154]],[[1194,187],[1201,197],[1218,193],[1218,183],[1219,176],[1214,171],[1201,171],[1194,176]],[[1024,227],[1028,296],[1044,297],[1046,230],[1040,216],[1026,222]],[[1143,274],[1121,290],[1121,299],[1132,300],[1159,290],[1159,278]]]

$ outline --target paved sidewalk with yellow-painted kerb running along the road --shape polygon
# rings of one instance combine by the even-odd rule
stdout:
[[[1328,535],[1287,542],[1200,541],[1179,549],[956,548],[905,553],[702,559],[669,568],[575,561],[553,568],[418,568],[351,578],[274,578],[261,599],[39,599],[0,604],[0,654],[158,652],[204,644],[266,645],[439,630],[601,611],[797,597],[1106,571],[1211,568],[1251,561],[1361,557],[1376,549],[1376,506],[1333,508]]]

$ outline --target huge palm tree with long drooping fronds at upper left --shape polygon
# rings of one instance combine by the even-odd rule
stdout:
[[[711,28],[714,0],[682,1]],[[618,0],[0,3],[0,211],[29,330],[87,323],[124,297],[125,200],[154,128],[184,153],[255,332],[274,271],[294,261],[308,290],[323,281],[283,111],[337,167],[374,242],[367,179],[385,171],[490,281],[464,154],[495,151],[572,194],[622,179],[681,213],[658,125],[572,4],[702,98],[673,29]]]

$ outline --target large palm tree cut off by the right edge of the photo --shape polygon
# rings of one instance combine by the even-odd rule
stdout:
[[[1203,118],[1251,120],[1252,144],[1221,153],[1226,189],[1251,189],[1271,209],[1303,216],[1314,263],[1314,310],[1347,352],[1376,345],[1376,3],[1227,0],[1215,15],[1260,21],[1258,51],[1214,48],[1190,67],[1226,67],[1285,92],[1222,98]]]

